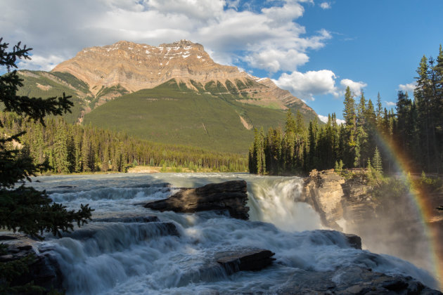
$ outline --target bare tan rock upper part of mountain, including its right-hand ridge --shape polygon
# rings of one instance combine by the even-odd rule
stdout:
[[[86,82],[94,96],[113,86],[134,92],[176,79],[196,91],[212,82],[222,85],[227,93],[248,93],[246,103],[274,104],[283,110],[297,105],[303,112],[314,113],[289,91],[279,89],[271,79],[215,63],[203,45],[188,40],[160,46],[118,41],[113,45],[84,48],[51,72],[72,74]]]

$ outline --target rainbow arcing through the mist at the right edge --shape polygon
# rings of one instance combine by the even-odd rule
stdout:
[[[435,210],[434,206],[430,204],[430,201],[426,197],[425,192],[420,190],[411,181],[410,172],[413,171],[413,167],[408,160],[408,157],[404,155],[402,149],[400,149],[392,140],[385,138],[380,132],[377,133],[378,143],[381,145],[385,155],[387,155],[392,164],[394,164],[394,170],[399,171],[400,178],[402,178],[411,188],[409,190],[409,199],[416,205],[417,214],[420,216],[420,221],[423,226],[425,236],[428,238],[428,250],[430,259],[432,261],[433,275],[437,279],[439,289],[443,290],[443,257],[438,251],[439,241],[437,240],[437,230],[431,228],[426,221],[429,221],[432,216],[432,211]],[[443,247],[443,245],[442,245]]]

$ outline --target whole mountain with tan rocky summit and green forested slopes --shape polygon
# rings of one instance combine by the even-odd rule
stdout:
[[[288,108],[306,121],[317,119],[271,79],[219,65],[187,40],[160,46],[119,41],[85,48],[51,72],[20,74],[26,95],[72,95],[70,122],[165,143],[245,152],[252,127],[283,125]]]

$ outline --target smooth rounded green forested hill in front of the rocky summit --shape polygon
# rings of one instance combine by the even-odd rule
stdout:
[[[195,86],[198,92],[172,79],[154,89],[115,98],[86,114],[84,124],[154,142],[247,152],[252,126],[268,129],[285,121],[283,111],[243,104],[228,91],[212,95],[209,91],[215,92],[217,85]]]

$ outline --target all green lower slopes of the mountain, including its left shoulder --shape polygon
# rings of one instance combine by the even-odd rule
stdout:
[[[47,98],[65,92],[72,96],[74,107],[71,114],[63,116],[66,122],[79,122],[86,110],[84,125],[124,131],[156,143],[246,153],[254,127],[276,128],[285,120],[278,105],[246,103],[259,100],[255,98],[257,91],[267,89],[252,79],[236,80],[235,85],[230,81],[226,85],[219,81],[203,85],[191,80],[193,89],[172,79],[135,93],[128,93],[120,85],[102,87],[96,89],[94,96],[89,86],[72,74],[28,70],[19,73],[23,79],[19,95]],[[294,113],[300,109],[297,105],[289,107]],[[305,120],[316,119],[314,112],[300,110]]]

